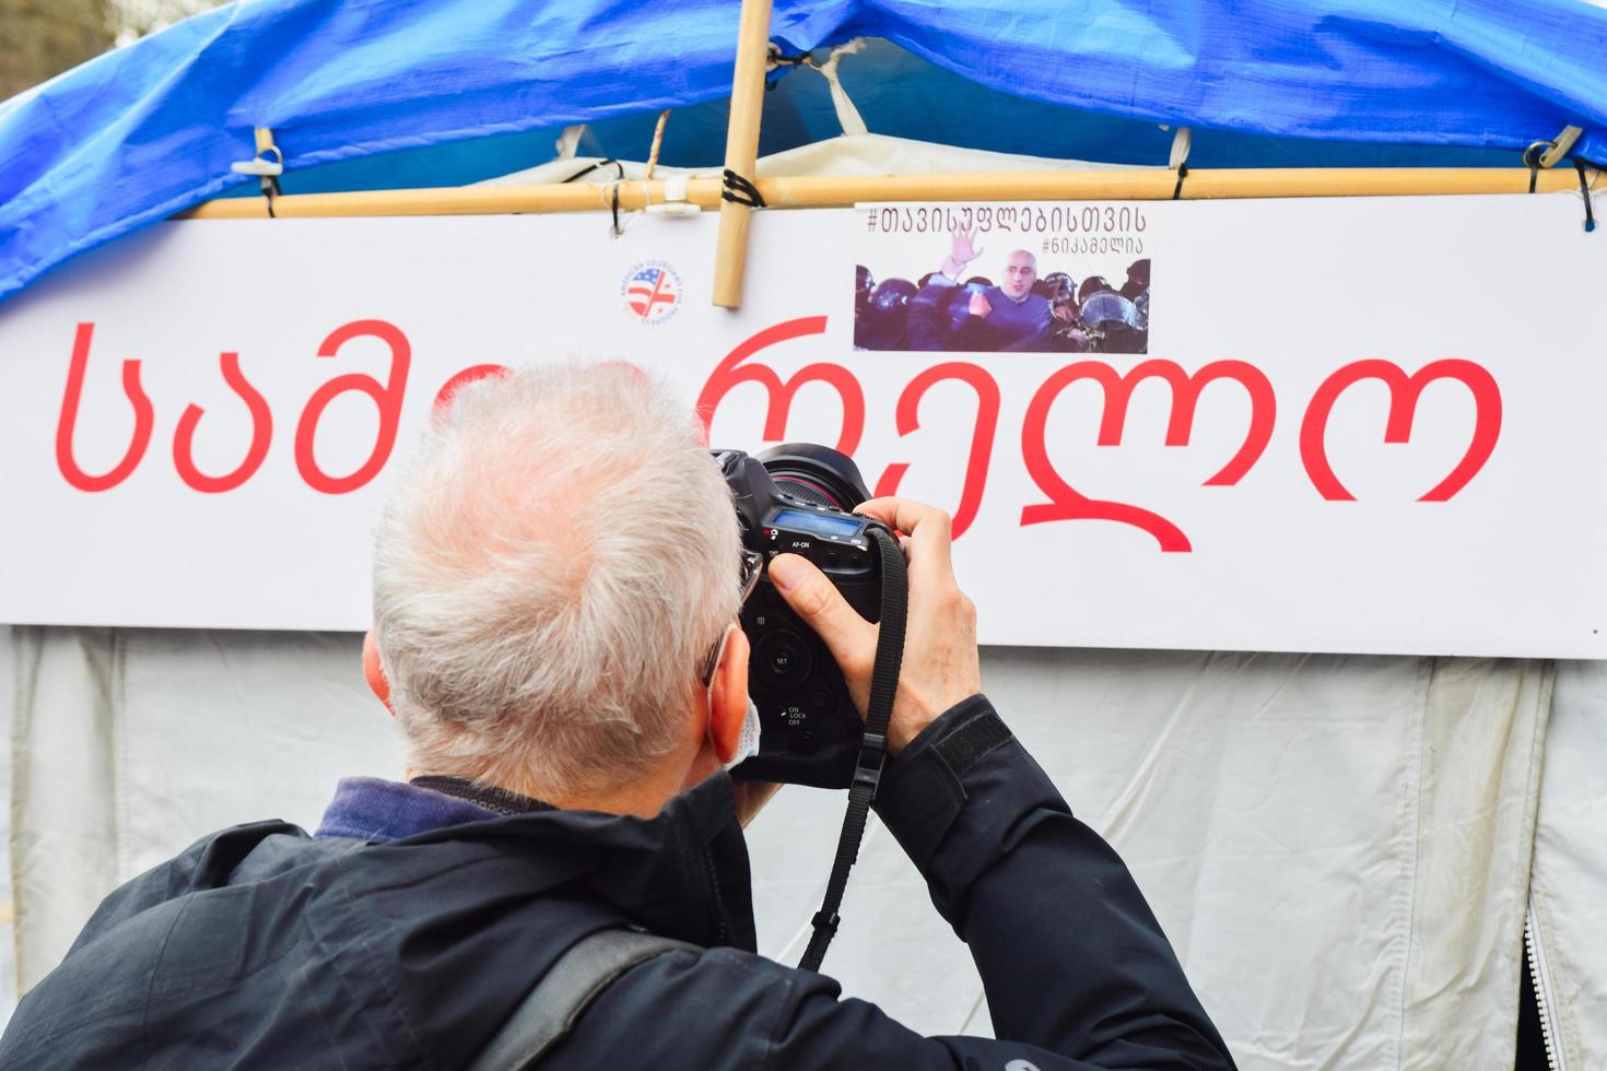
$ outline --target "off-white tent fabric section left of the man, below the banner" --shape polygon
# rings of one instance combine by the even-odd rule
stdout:
[[[108,891],[204,832],[265,817],[315,825],[339,776],[400,774],[360,637],[11,631],[22,991]]]

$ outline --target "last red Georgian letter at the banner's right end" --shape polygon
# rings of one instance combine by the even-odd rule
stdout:
[[[1475,417],[1474,438],[1467,445],[1467,453],[1451,469],[1451,474],[1440,480],[1419,503],[1443,503],[1467,487],[1467,482],[1478,475],[1478,470],[1495,453],[1496,440],[1501,438],[1501,389],[1495,376],[1472,361],[1443,360],[1432,361],[1417,369],[1416,376],[1406,376],[1398,364],[1390,361],[1356,361],[1345,364],[1337,373],[1323,381],[1323,385],[1311,395],[1305,419],[1300,422],[1300,461],[1318,495],[1331,503],[1355,501],[1355,495],[1334,475],[1334,467],[1327,461],[1327,419],[1334,413],[1334,403],[1347,387],[1363,379],[1382,379],[1390,389],[1390,416],[1384,424],[1384,442],[1405,443],[1411,438],[1411,422],[1417,414],[1417,398],[1422,389],[1435,379],[1461,381],[1474,395]]]

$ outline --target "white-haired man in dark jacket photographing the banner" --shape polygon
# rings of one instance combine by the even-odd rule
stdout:
[[[910,564],[876,806],[971,943],[996,1040],[921,1037],[755,955],[739,806],[765,790],[722,771],[752,573],[691,409],[598,366],[464,389],[391,488],[373,678],[407,780],[342,780],[313,837],[223,830],[112,893],[0,1066],[466,1066],[620,930],[683,944],[579,1008],[532,1000],[562,1037],[540,1066],[1228,1066],[1122,861],[979,694],[948,519],[863,509]],[[863,703],[876,626],[804,559],[768,570]]]

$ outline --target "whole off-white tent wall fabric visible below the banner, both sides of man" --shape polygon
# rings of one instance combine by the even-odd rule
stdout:
[[[194,837],[312,824],[336,777],[400,774],[355,636],[18,628],[13,647],[24,986],[101,894]],[[988,694],[1122,851],[1245,1068],[1511,1065],[1530,862],[1556,875],[1546,910],[1568,939],[1599,922],[1580,902],[1607,870],[1607,840],[1580,832],[1601,822],[1588,764],[1607,739],[1581,724],[1607,678],[1559,686],[1576,763],[1544,747],[1556,678],[1517,660],[983,652]],[[1575,787],[1543,793],[1543,763]],[[1540,814],[1543,795],[1560,811]],[[762,952],[802,952],[842,806],[789,787],[750,827]],[[876,825],[842,914],[826,970],[848,994],[924,1032],[988,1031],[964,946]],[[1570,965],[1581,1008],[1604,962]],[[1578,1031],[1583,1066],[1601,1045]]]

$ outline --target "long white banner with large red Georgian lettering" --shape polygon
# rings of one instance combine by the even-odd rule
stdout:
[[[365,628],[386,464],[437,393],[574,355],[660,369],[717,446],[837,445],[951,511],[988,644],[1607,657],[1580,222],[759,212],[739,313],[712,215],[159,225],[0,305],[0,620]]]

